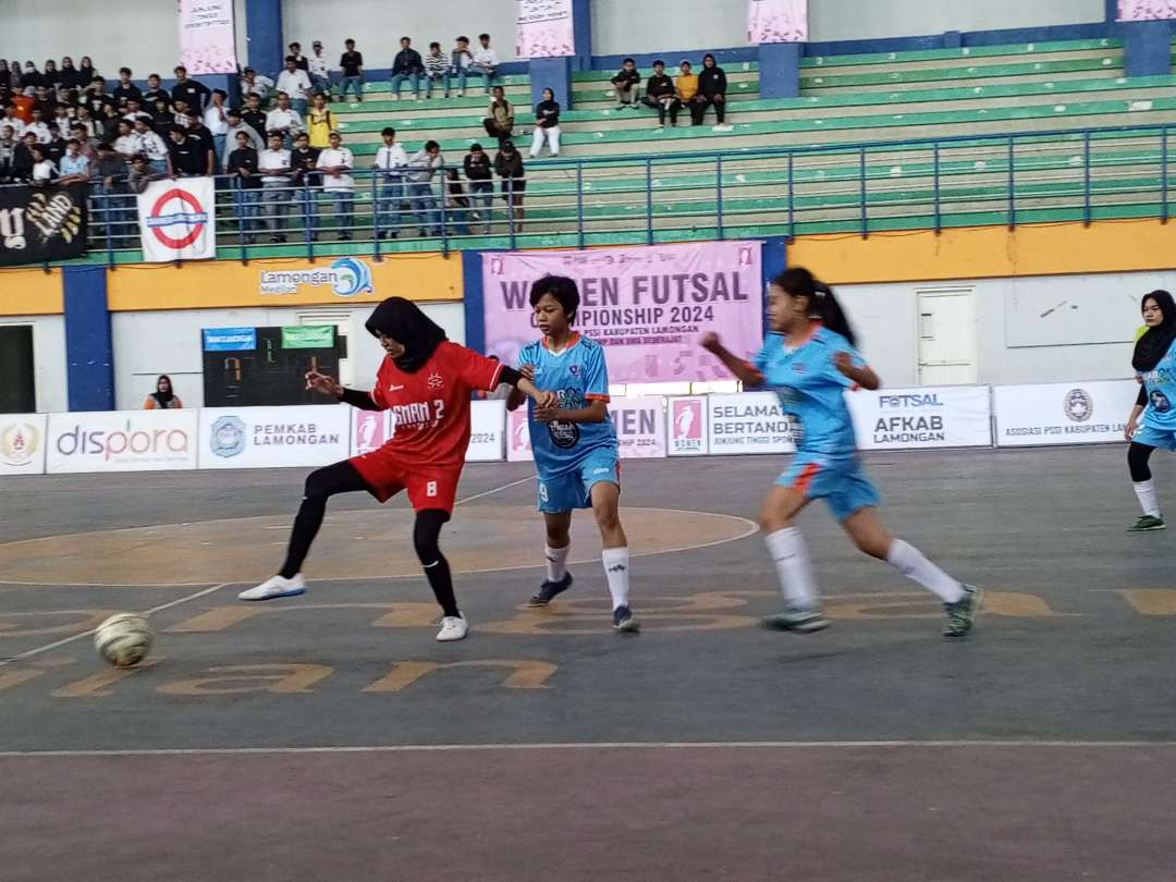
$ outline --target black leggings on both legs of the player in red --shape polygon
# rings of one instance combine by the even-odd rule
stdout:
[[[302,505],[299,506],[298,516],[294,519],[294,529],[290,532],[290,542],[286,552],[286,562],[278,570],[280,576],[293,579],[302,570],[302,562],[310,550],[310,543],[319,534],[322,519],[327,513],[327,500],[336,493],[355,493],[358,490],[370,490],[367,481],[360,475],[349,461],[343,460],[333,466],[326,466],[312,472],[306,479],[306,494],[302,496]],[[427,508],[416,513],[416,523],[413,526],[413,547],[416,556],[425,567],[425,575],[429,580],[429,587],[441,604],[446,615],[461,615],[457,612],[457,601],[453,594],[453,576],[449,573],[449,562],[437,544],[441,537],[441,527],[449,520],[449,513],[440,508]]]

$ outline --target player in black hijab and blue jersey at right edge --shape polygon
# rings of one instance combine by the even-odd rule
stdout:
[[[1143,323],[1148,329],[1135,342],[1131,367],[1140,381],[1140,397],[1131,408],[1124,433],[1131,446],[1127,450],[1127,466],[1131,472],[1131,486],[1140,500],[1143,514],[1128,533],[1162,530],[1164,519],[1156,501],[1156,486],[1151,481],[1148,460],[1157,447],[1176,450],[1176,303],[1167,290],[1154,290],[1144,295],[1141,303]],[[1143,414],[1143,426],[1140,426]]]

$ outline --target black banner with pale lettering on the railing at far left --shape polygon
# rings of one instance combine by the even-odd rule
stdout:
[[[0,187],[0,266],[86,253],[86,187]]]

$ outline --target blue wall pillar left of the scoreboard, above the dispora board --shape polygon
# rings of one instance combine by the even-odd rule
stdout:
[[[106,267],[62,269],[66,381],[71,410],[114,409],[114,342],[106,306]]]

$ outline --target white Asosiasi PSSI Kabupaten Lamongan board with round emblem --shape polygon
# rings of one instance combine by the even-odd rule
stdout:
[[[1124,441],[1123,427],[1138,394],[1135,380],[995,386],[996,446]]]

